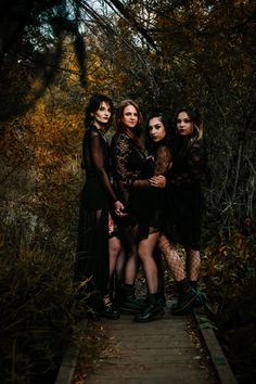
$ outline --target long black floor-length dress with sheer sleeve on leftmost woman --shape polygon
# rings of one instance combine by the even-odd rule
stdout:
[[[108,284],[108,212],[117,200],[110,182],[107,141],[94,126],[86,129],[82,140],[82,168],[86,183],[80,196],[75,279],[91,278],[88,291],[106,293]],[[93,299],[92,299],[93,302]],[[91,305],[97,308],[100,298]]]

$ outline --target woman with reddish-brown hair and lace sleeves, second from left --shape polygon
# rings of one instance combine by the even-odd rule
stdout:
[[[121,242],[128,257],[120,308],[126,313],[139,313],[135,321],[151,321],[163,315],[157,300],[157,267],[153,257],[159,235],[159,212],[155,209],[150,190],[163,188],[162,176],[154,176],[154,159],[146,152],[139,124],[141,115],[131,100],[117,110],[117,132],[112,142],[114,187],[127,207],[127,216],[118,221]],[[153,196],[155,197],[155,196]],[[152,205],[153,204],[153,205]],[[148,303],[142,307],[135,297],[133,284],[138,269],[138,253],[142,260],[148,284]]]

